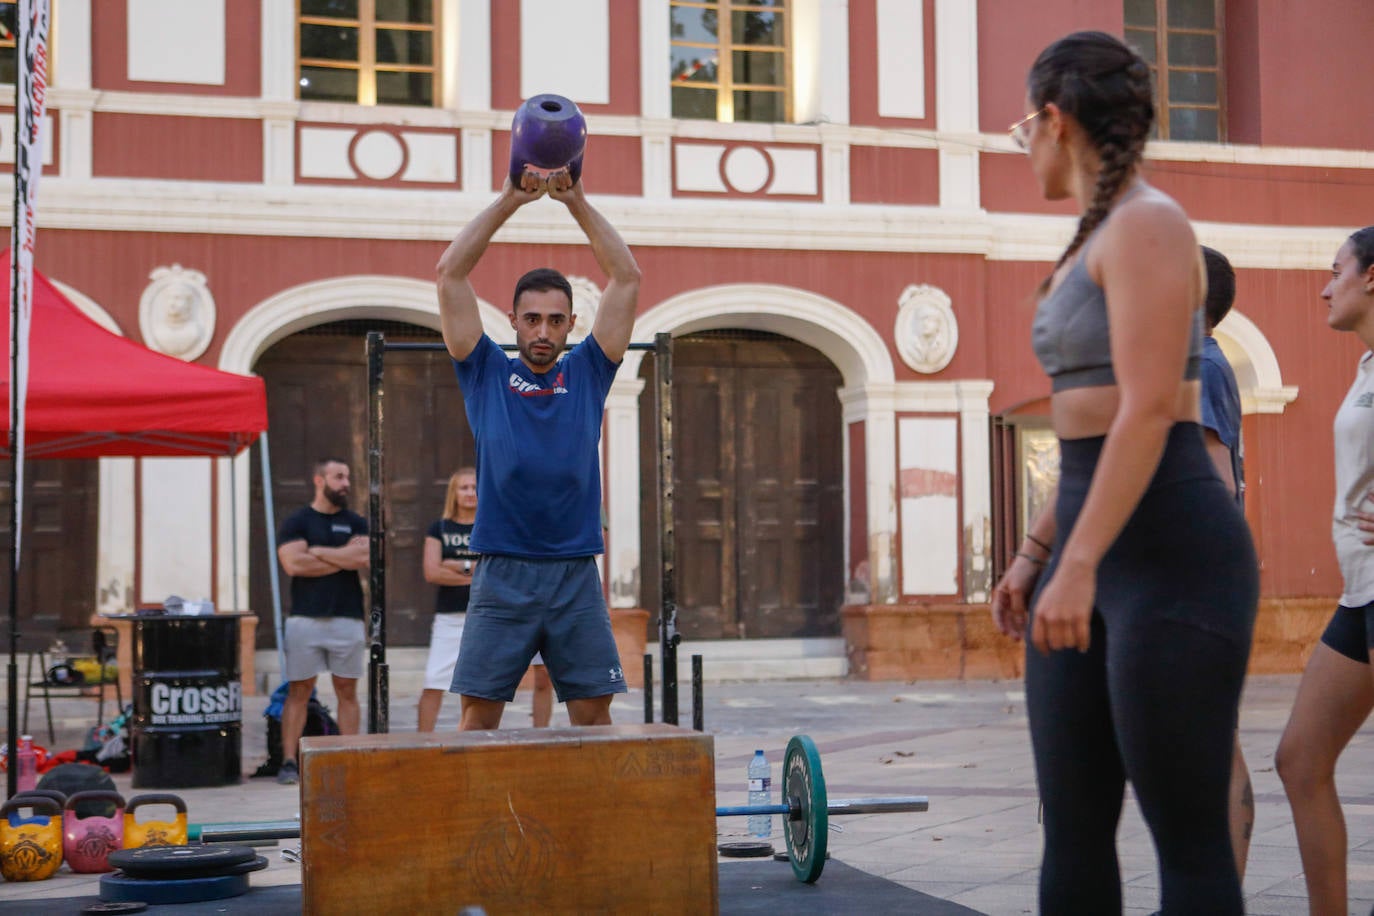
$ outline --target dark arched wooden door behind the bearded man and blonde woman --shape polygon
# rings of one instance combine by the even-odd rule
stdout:
[[[276,529],[287,515],[311,501],[315,493],[311,468],[326,456],[349,461],[349,508],[367,516],[365,336],[370,330],[383,331],[387,341],[440,342],[436,332],[411,324],[337,321],[286,338],[254,367],[267,383]],[[420,569],[425,531],[444,512],[449,475],[474,460],[473,434],[447,352],[386,353],[383,417],[386,641],[389,645],[426,645],[434,586],[425,582]],[[275,645],[275,639],[257,449],[254,446],[250,589],[253,607],[264,619],[258,645],[267,648]],[[289,612],[290,585],[284,574],[280,584],[282,607]]]

